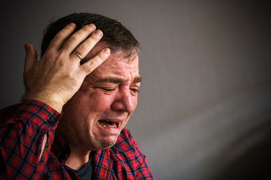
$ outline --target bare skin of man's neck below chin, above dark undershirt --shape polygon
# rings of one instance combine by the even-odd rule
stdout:
[[[84,165],[89,160],[90,150],[75,148],[71,145],[70,145],[70,148],[71,148],[71,154],[66,160],[65,164],[74,170],[79,170],[83,168]]]

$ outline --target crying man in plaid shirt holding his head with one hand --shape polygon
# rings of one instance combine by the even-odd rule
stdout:
[[[0,179],[153,179],[124,128],[141,82],[132,34],[74,13],[47,27],[39,61],[25,48],[24,100],[0,112]]]

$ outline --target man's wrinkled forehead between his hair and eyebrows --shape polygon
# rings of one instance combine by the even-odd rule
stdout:
[[[87,54],[85,59],[90,59],[97,55],[105,46],[97,44]],[[138,55],[124,58],[123,52],[117,51],[111,53],[110,56],[94,69],[88,76],[92,77],[121,77],[126,80],[132,80],[135,76],[139,76],[139,58]]]

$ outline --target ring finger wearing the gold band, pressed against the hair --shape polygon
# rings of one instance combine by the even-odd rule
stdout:
[[[94,45],[102,38],[102,31],[101,30],[95,30],[94,33],[90,35],[83,43],[81,43],[76,49],[75,52],[80,54],[82,58],[84,58],[88,52],[94,47]],[[71,58],[77,58],[76,54],[71,54]],[[80,58],[80,57],[79,57]]]

